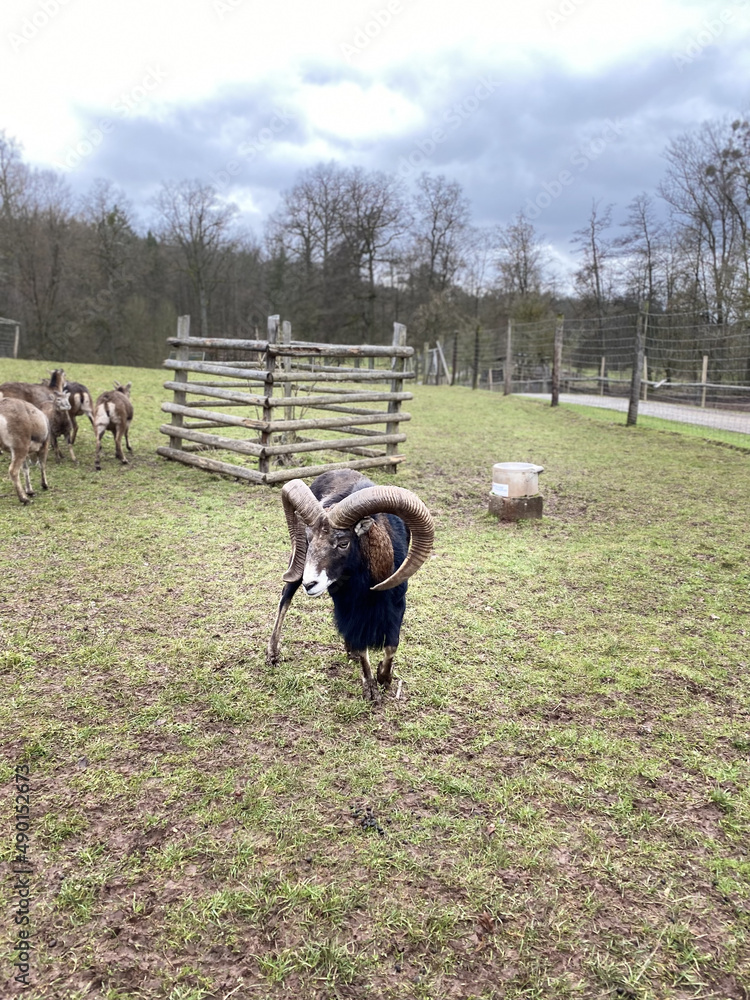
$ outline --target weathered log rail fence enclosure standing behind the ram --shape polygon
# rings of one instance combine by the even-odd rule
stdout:
[[[168,341],[175,357],[164,362],[175,372],[174,380],[164,383],[173,400],[161,407],[171,414],[171,423],[159,428],[169,446],[157,453],[251,483],[282,483],[344,468],[382,466],[396,472],[405,458],[398,452],[406,440],[400,424],[411,419],[401,403],[413,398],[403,383],[414,378],[407,368],[414,349],[406,346],[406,327],[393,326],[392,346],[355,346],[294,341],[291,324],[279,323],[278,316],[268,319],[267,340],[191,337],[190,317],[180,316],[177,336]],[[198,352],[203,360],[197,360]],[[218,360],[238,354],[247,360]],[[385,408],[373,405],[383,403]],[[252,416],[247,408],[254,410]],[[305,416],[308,410],[314,415]],[[376,424],[384,424],[385,431]],[[206,433],[221,428],[228,431]],[[326,436],[304,437],[300,432],[305,431]],[[257,468],[209,458],[206,451],[257,459]],[[313,452],[323,458],[335,452],[353,457],[303,465],[303,456]]]

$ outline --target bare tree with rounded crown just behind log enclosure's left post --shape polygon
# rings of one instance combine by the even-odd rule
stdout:
[[[178,251],[179,266],[198,299],[201,336],[207,337],[211,296],[237,247],[233,223],[239,209],[220,201],[215,188],[198,180],[165,182],[155,205],[157,234]]]

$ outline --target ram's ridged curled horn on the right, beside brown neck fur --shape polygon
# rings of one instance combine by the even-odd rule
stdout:
[[[328,516],[334,528],[351,528],[371,514],[396,514],[411,532],[411,546],[406,559],[387,580],[370,588],[390,590],[413,576],[427,559],[432,550],[435,526],[419,497],[400,486],[368,486],[357,490],[332,507]]]

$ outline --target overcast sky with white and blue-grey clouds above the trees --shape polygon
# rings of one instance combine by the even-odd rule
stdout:
[[[0,128],[142,221],[200,178],[259,235],[320,161],[460,181],[565,253],[654,191],[670,137],[750,105],[750,0],[3,0]]]

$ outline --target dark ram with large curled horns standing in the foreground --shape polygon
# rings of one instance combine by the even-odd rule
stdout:
[[[346,651],[362,665],[365,697],[379,701],[378,684],[391,683],[407,580],[432,549],[430,513],[409,490],[376,486],[351,469],[326,472],[310,487],[294,479],[281,497],[292,556],[267,660],[279,662],[281,626],[300,585],[311,597],[328,591]],[[384,650],[377,681],[368,649]]]

